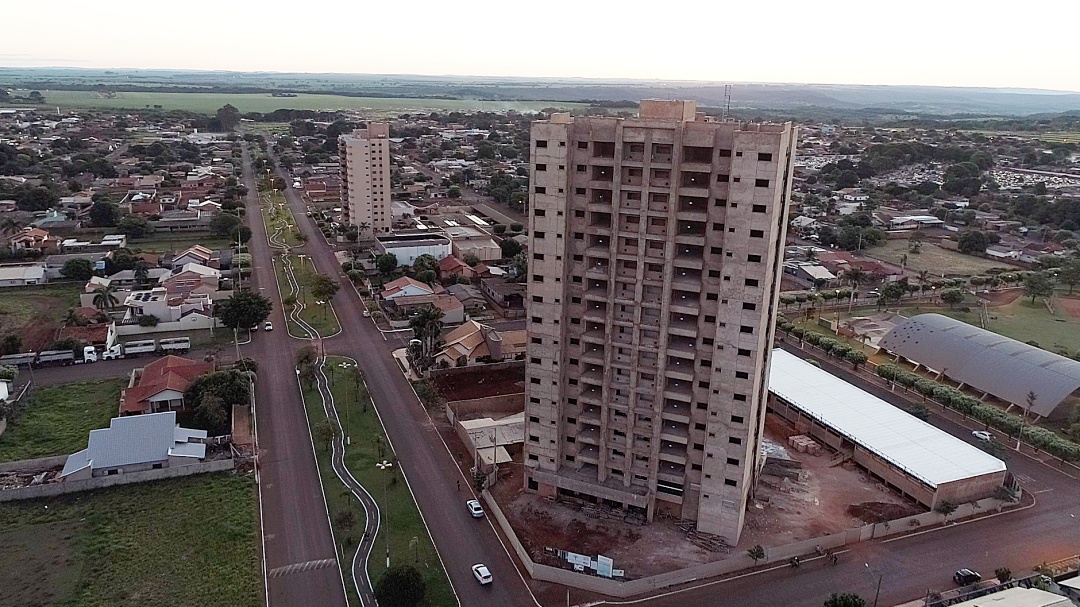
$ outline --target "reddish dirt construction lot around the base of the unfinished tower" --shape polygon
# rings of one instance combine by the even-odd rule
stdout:
[[[792,433],[794,429],[770,416],[769,441],[785,445]],[[762,476],[739,545],[719,552],[691,542],[671,518],[637,525],[586,513],[569,501],[527,494],[519,466],[502,467],[491,494],[537,562],[559,565],[545,548],[604,554],[615,559],[617,568],[625,569],[627,578],[718,561],[755,544],[770,548],[820,537],[879,522],[882,515],[900,518],[923,511],[868,481],[851,462],[831,466],[828,451],[815,457],[788,449],[787,455],[802,464],[799,480]],[[511,470],[504,472],[507,468]]]

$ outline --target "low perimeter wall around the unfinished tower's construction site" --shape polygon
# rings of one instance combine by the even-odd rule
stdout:
[[[517,539],[517,535],[510,526],[510,521],[508,521],[505,515],[503,515],[502,510],[499,508],[499,504],[496,503],[491,495],[485,490],[482,496],[484,498],[484,502],[487,504],[488,514],[495,517],[495,521],[499,524],[502,532],[510,539],[510,544],[513,547],[514,552],[517,554],[517,558],[522,562],[522,565],[524,565],[525,570],[528,571],[529,577],[535,580],[568,585],[618,598],[636,596],[646,592],[671,588],[704,578],[714,578],[717,576],[734,574],[737,571],[750,569],[756,565],[786,563],[793,556],[805,556],[808,554],[815,555],[818,554],[819,549],[835,550],[850,543],[859,543],[866,540],[909,532],[923,526],[944,523],[946,520],[944,515],[936,512],[924,512],[922,514],[908,516],[906,518],[897,518],[888,523],[863,525],[862,527],[845,529],[842,531],[820,538],[811,538],[782,547],[768,548],[765,550],[765,558],[756,562],[751,558],[747,553],[741,552],[732,554],[728,558],[724,558],[721,561],[703,563],[685,569],[666,571],[664,574],[658,574],[646,578],[619,581],[585,574],[578,574],[569,569],[562,569],[558,567],[551,567],[549,565],[535,563],[525,550],[525,547],[522,545],[522,542]],[[956,512],[954,512],[949,517],[961,518],[963,516],[974,514],[978,510],[996,509],[1001,504],[1001,501],[995,499],[981,500],[974,505],[971,503],[963,503],[960,504]]]

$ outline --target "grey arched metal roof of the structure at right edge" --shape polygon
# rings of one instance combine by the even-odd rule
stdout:
[[[881,347],[1022,407],[1035,392],[1042,417],[1080,389],[1080,362],[941,314],[907,319]]]

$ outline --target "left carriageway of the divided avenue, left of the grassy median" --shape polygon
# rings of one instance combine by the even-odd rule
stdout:
[[[339,607],[346,605],[345,589],[333,561],[334,540],[294,372],[294,351],[303,342],[285,331],[246,145],[244,185],[248,189],[245,203],[252,228],[248,246],[255,259],[255,285],[274,300],[270,319],[279,327],[259,333],[253,343],[259,352],[255,399],[270,606]]]

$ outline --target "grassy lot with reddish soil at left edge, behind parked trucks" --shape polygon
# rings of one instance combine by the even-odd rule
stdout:
[[[0,335],[23,338],[23,351],[49,345],[70,308],[79,306],[83,284],[5,288],[0,296]]]

